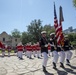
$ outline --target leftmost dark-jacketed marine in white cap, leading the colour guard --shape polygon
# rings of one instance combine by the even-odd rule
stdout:
[[[48,40],[46,38],[46,31],[41,32],[41,39],[40,39],[40,47],[41,47],[41,53],[43,55],[43,72],[47,72],[46,65],[48,61]]]

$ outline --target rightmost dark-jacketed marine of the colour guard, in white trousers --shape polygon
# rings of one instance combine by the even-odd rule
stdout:
[[[72,57],[72,52],[70,50],[71,50],[70,41],[68,39],[68,36],[66,35],[64,40],[64,51],[67,65],[70,64],[70,59]]]

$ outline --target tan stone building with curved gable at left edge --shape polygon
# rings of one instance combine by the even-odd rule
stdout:
[[[10,45],[11,47],[16,47],[19,42],[21,42],[20,38],[12,37],[6,32],[2,32],[0,34],[0,41],[5,45]]]

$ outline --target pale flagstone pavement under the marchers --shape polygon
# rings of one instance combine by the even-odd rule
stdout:
[[[47,63],[48,73],[42,71],[42,58],[38,59],[33,57],[33,59],[27,58],[23,55],[23,60],[19,60],[16,53],[11,53],[10,57],[1,57],[0,53],[0,75],[76,75],[76,55],[75,50],[72,51],[73,56],[70,61],[70,65],[64,65],[65,68],[59,66],[59,61],[57,63],[57,70],[52,67],[52,56],[49,56]]]

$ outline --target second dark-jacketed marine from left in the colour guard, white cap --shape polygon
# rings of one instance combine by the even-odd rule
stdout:
[[[51,52],[52,52],[52,55],[53,55],[53,69],[56,69],[56,63],[58,61],[59,55],[58,55],[58,52],[57,52],[55,33],[50,34],[49,43],[51,45]]]

